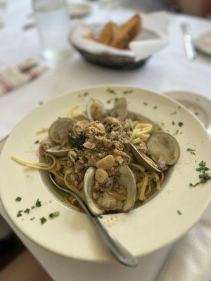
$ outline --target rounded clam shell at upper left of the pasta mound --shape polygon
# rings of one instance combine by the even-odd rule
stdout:
[[[53,122],[49,128],[49,138],[54,143],[58,145],[63,143],[68,143],[68,131],[70,125],[73,124],[75,120],[70,118],[59,118]]]

